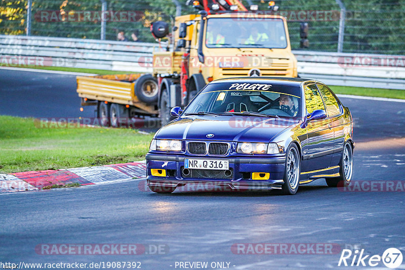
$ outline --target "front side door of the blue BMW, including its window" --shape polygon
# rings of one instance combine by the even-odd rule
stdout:
[[[315,84],[304,86],[307,115],[314,110],[325,110],[325,104]],[[307,124],[307,151],[303,155],[303,172],[328,168],[334,144],[332,119],[312,120]]]

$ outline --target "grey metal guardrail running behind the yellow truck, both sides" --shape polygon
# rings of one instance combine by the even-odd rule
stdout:
[[[166,44],[162,45],[163,47]],[[151,72],[158,43],[0,35],[0,55],[43,57],[49,66]],[[405,57],[293,51],[301,77],[331,85],[405,89]],[[4,62],[4,60],[2,60]],[[6,60],[7,61],[7,60]],[[3,63],[4,64],[4,63]]]

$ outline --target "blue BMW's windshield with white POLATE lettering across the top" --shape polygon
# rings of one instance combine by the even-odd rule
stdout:
[[[265,83],[214,83],[195,97],[183,112],[184,116],[192,114],[299,119],[300,87]]]

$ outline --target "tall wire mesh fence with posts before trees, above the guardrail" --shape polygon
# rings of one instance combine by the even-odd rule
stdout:
[[[129,41],[133,40],[134,33],[143,42],[154,41],[149,32],[151,22],[170,21],[176,13],[195,12],[185,6],[184,0],[4,0],[1,3],[0,34],[116,40],[118,32],[123,31]],[[179,5],[176,7],[175,3]],[[267,10],[267,1],[244,0],[242,3],[258,4],[259,10]],[[279,0],[276,4],[279,6],[277,14],[289,21],[294,50],[405,53],[404,1]],[[103,21],[100,19],[103,10],[134,12],[135,15],[132,19],[114,17]],[[90,16],[86,17],[84,12],[90,12]],[[300,49],[301,21],[309,25],[308,49]]]

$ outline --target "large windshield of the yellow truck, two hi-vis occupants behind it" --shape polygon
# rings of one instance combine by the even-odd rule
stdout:
[[[236,18],[210,18],[207,22],[208,48],[287,48],[281,19],[239,21]]]

